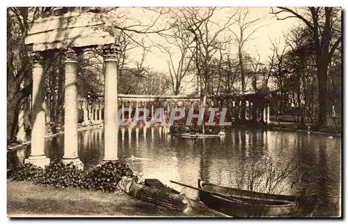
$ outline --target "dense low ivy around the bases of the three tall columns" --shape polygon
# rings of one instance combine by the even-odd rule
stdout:
[[[81,171],[72,163],[64,164],[61,160],[54,160],[45,169],[30,163],[19,166],[9,173],[8,179],[58,188],[76,187],[114,192],[123,176],[134,178],[136,181],[138,179],[125,162],[106,162],[92,171]]]

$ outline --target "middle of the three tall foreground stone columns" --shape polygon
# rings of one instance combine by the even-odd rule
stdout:
[[[84,164],[77,154],[77,54],[72,49],[65,52],[64,98],[64,156],[63,162],[72,162],[80,169]]]

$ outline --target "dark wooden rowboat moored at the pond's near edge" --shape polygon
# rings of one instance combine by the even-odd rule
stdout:
[[[233,217],[307,216],[317,204],[315,196],[285,196],[222,187],[198,180],[200,201],[207,207]],[[212,193],[218,195],[213,195]]]

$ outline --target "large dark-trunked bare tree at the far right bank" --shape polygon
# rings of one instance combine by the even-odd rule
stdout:
[[[342,42],[341,10],[332,7],[308,7],[301,10],[292,8],[272,8],[271,14],[278,20],[296,18],[303,21],[311,31],[311,37],[315,43],[315,64],[317,67],[317,79],[319,87],[319,117],[317,125],[326,125],[326,92],[328,67],[333,53],[340,49]],[[280,15],[286,15],[280,17]]]

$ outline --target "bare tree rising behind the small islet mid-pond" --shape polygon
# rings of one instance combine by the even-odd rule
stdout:
[[[227,37],[226,31],[233,24],[232,18],[235,13],[231,13],[226,19],[215,22],[214,14],[219,13],[216,8],[179,8],[176,13],[176,24],[180,28],[190,33],[189,47],[193,62],[196,67],[198,86],[200,87],[201,110],[205,106],[205,96],[213,92],[211,64],[216,53],[224,49],[226,44],[231,41]],[[205,132],[204,123],[202,132]]]

